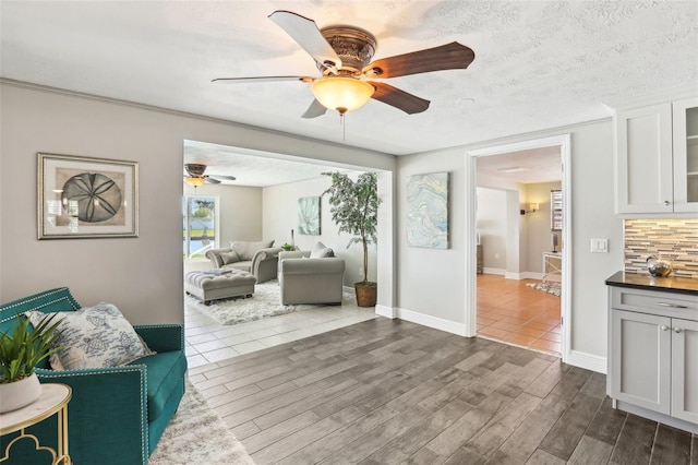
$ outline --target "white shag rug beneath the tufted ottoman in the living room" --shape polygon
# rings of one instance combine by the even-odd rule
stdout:
[[[220,324],[232,325],[263,318],[276,317],[299,310],[326,307],[325,305],[291,305],[282,306],[280,300],[279,283],[276,279],[254,286],[254,295],[249,298],[233,297],[230,299],[214,300],[210,305],[204,305],[194,296],[184,295],[184,305],[212,317]],[[353,293],[344,293],[342,302],[356,302]]]

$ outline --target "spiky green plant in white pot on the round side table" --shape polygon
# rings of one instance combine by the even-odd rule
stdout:
[[[17,314],[17,324],[11,332],[0,333],[0,413],[28,405],[41,395],[35,367],[53,347],[60,321],[51,324],[56,315],[47,315],[32,329],[29,320]]]

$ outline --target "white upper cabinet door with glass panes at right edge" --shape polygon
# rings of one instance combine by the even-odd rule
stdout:
[[[698,212],[698,98],[674,102],[674,212]]]

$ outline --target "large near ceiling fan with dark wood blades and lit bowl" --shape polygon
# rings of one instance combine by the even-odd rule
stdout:
[[[327,108],[344,115],[346,111],[360,108],[371,98],[408,115],[422,112],[429,108],[429,100],[383,82],[368,80],[466,69],[476,58],[472,49],[453,41],[372,62],[377,40],[368,31],[347,25],[332,25],[320,29],[313,20],[284,10],[275,11],[269,19],[310,53],[322,76],[218,78],[213,82],[301,81],[310,83],[315,100],[302,115],[303,118],[322,116]]]

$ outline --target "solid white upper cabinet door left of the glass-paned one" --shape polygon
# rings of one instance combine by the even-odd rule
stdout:
[[[616,115],[616,213],[673,212],[672,105]]]

